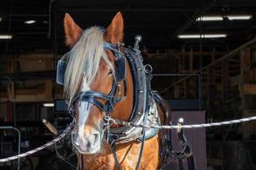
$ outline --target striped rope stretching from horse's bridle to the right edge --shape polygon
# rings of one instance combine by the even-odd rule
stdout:
[[[234,123],[240,123],[240,122],[249,122],[249,121],[254,121],[256,120],[256,116],[251,116],[247,118],[241,118],[241,119],[236,119],[233,121],[224,121],[224,122],[212,122],[212,123],[203,123],[203,124],[190,124],[190,125],[182,125],[182,126],[177,126],[177,125],[142,125],[142,124],[135,124],[131,122],[124,122],[120,121],[117,119],[113,119],[112,121],[116,124],[123,125],[123,126],[133,126],[133,127],[144,127],[144,128],[165,128],[165,129],[172,129],[172,128],[201,128],[201,127],[218,127],[218,126],[223,126],[223,125],[230,125]]]

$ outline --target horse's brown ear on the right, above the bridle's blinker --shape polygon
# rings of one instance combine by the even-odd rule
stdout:
[[[106,39],[113,44],[121,42],[123,40],[123,34],[124,34],[123,31],[124,31],[123,16],[120,12],[118,12],[113,17],[111,24],[107,28]]]

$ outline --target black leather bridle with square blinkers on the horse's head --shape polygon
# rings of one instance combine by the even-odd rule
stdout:
[[[79,94],[77,94],[71,102],[71,107],[70,111],[73,112],[73,115],[75,113],[75,104],[78,101],[84,101],[88,102],[91,105],[95,105],[100,111],[105,112],[104,116],[104,131],[107,131],[106,133],[106,138],[107,141],[109,139],[110,133],[110,120],[111,120],[111,112],[114,110],[114,106],[121,102],[124,101],[126,98],[126,92],[127,92],[127,83],[125,80],[125,65],[126,65],[126,59],[124,54],[120,51],[120,44],[113,44],[109,42],[104,42],[103,44],[104,49],[108,49],[113,52],[113,55],[115,57],[115,62],[114,62],[114,67],[115,71],[113,74],[113,82],[112,82],[112,88],[108,94],[103,94],[102,92],[98,91],[81,91]],[[66,58],[66,55],[64,54],[63,58]],[[62,66],[61,66],[62,65]],[[64,65],[64,66],[63,66]],[[58,69],[65,71],[66,70],[66,61],[64,59],[61,59],[58,61]],[[65,68],[63,68],[65,67]],[[60,74],[57,72],[57,81],[59,84],[64,84],[64,74],[61,76],[63,77],[58,77]],[[60,83],[62,80],[63,82]],[[122,95],[121,92],[121,83],[123,82],[124,84],[124,94]],[[102,100],[106,101],[105,103],[102,102]]]

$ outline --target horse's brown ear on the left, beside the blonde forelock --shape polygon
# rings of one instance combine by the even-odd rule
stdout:
[[[72,48],[82,35],[83,29],[80,28],[69,14],[65,14],[64,30],[66,35],[67,46]]]

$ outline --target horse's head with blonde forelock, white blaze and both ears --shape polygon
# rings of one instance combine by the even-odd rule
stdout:
[[[124,90],[119,91],[124,77],[118,80],[116,71],[117,61],[123,59],[116,56],[121,55],[119,43],[123,38],[123,29],[120,13],[114,16],[106,30],[93,26],[84,31],[69,14],[65,15],[66,42],[72,49],[68,53],[64,91],[68,105],[76,112],[72,139],[79,153],[95,154],[101,150],[105,118],[115,105],[111,100],[120,99],[117,97],[119,94],[125,95]],[[126,61],[119,62],[124,65]],[[110,98],[109,94],[112,94]]]

